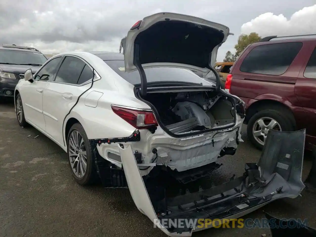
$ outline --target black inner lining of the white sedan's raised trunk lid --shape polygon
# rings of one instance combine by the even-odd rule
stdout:
[[[184,21],[159,21],[137,35],[140,63],[181,63],[209,67],[211,52],[224,34],[211,27]]]

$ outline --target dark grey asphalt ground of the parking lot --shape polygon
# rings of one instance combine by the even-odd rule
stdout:
[[[221,158],[224,165],[211,179],[228,180],[244,172],[245,162],[258,161],[260,152],[252,147],[245,130],[245,142],[233,157]],[[0,236],[166,236],[137,210],[127,189],[77,185],[66,153],[34,128],[21,128],[12,102],[0,102],[0,142]],[[306,155],[303,180],[310,167]],[[315,193],[304,190],[302,197],[274,201],[244,218],[264,218],[264,210],[278,218],[308,218],[315,228],[315,200]],[[269,229],[260,228],[211,228],[192,236],[261,234],[271,236]]]

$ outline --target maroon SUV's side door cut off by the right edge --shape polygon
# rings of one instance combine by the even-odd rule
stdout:
[[[295,95],[306,114],[306,133],[316,137],[316,43],[304,43],[303,50],[305,61],[295,83]]]

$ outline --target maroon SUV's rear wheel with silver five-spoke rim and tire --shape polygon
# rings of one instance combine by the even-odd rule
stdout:
[[[270,129],[277,131],[293,131],[290,114],[278,110],[265,109],[255,113],[248,122],[247,135],[251,143],[258,149],[263,149]]]

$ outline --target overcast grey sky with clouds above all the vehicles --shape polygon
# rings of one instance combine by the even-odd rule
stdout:
[[[43,53],[73,50],[118,52],[128,29],[161,11],[194,15],[230,28],[221,61],[240,33],[316,33],[315,0],[1,0],[0,44],[33,46]]]

